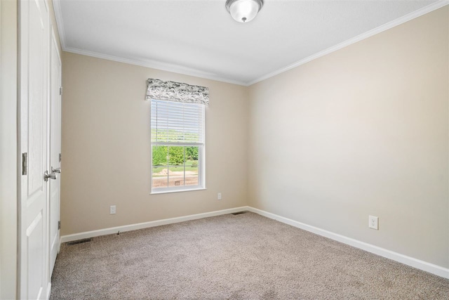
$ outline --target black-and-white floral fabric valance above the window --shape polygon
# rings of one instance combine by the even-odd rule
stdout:
[[[149,78],[147,81],[147,100],[168,100],[184,103],[209,105],[209,88],[191,86],[174,81]]]

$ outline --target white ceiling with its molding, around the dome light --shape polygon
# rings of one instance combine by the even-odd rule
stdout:
[[[225,0],[53,0],[65,51],[242,85],[447,2],[265,0],[240,23]]]

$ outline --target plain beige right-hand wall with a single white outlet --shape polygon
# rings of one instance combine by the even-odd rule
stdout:
[[[250,86],[248,204],[448,268],[448,17]]]

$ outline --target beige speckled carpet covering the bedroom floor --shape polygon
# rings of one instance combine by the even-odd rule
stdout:
[[[248,212],[63,244],[51,299],[449,299],[449,280]]]

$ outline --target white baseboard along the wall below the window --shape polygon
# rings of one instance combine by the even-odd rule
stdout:
[[[244,211],[247,210],[248,207],[235,207],[233,209],[222,209],[219,211],[210,211],[203,214],[191,214],[189,216],[178,216],[176,218],[170,218],[170,219],[162,219],[157,221],[150,221],[145,223],[137,223],[137,224],[130,224],[125,226],[117,226],[112,228],[105,228],[105,229],[99,229],[99,230],[92,230],[87,231],[85,233],[75,233],[73,235],[62,235],[61,237],[61,243],[63,242],[71,242],[74,240],[81,240],[86,239],[89,237],[98,237],[100,235],[112,235],[114,233],[120,232],[126,232],[130,230],[138,230],[142,228],[150,228],[155,226],[162,226],[162,225],[168,225],[173,223],[180,223],[185,221],[191,221],[191,220],[197,220],[197,219],[203,219],[208,218],[210,216],[220,216],[222,214],[232,214],[234,212]]]

